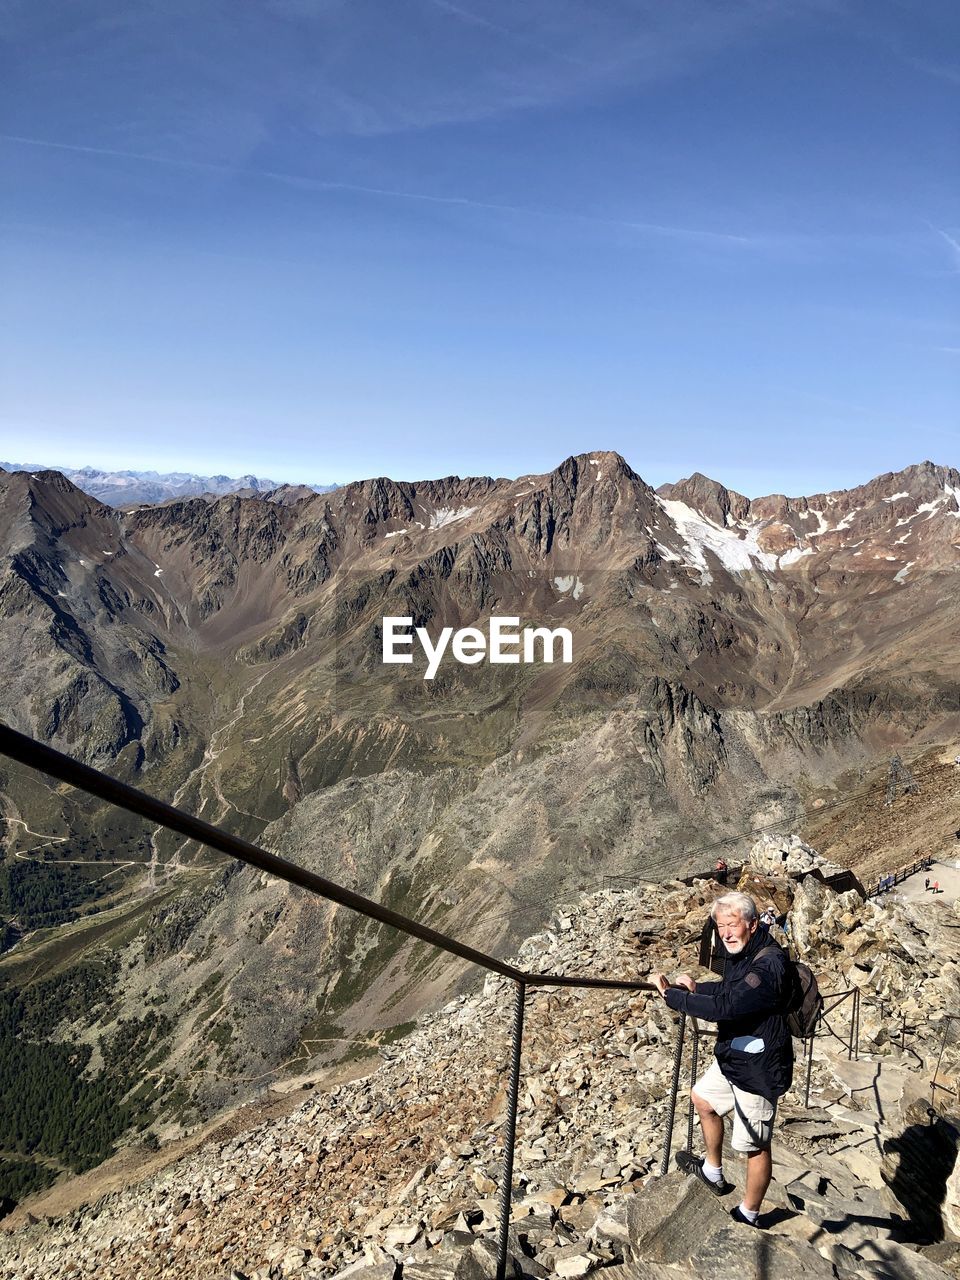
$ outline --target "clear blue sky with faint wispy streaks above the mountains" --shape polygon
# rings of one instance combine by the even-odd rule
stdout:
[[[950,0],[0,0],[0,457],[960,465]]]

